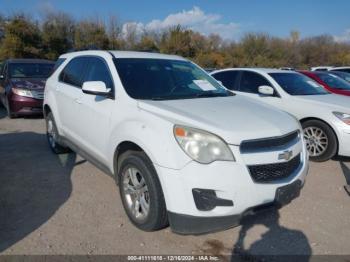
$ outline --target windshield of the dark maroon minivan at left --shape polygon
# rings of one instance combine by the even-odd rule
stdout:
[[[10,63],[10,78],[47,78],[54,64],[50,63]]]

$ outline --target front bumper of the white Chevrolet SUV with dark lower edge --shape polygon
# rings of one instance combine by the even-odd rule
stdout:
[[[301,143],[296,147],[302,147]],[[236,162],[216,161],[203,165],[193,161],[181,170],[156,165],[173,231],[182,234],[200,234],[236,226],[247,210],[273,204],[278,188],[297,180],[301,185],[304,184],[308,172],[308,159],[304,146],[302,149],[299,148],[302,164],[297,173],[264,184],[252,180],[247,165],[253,162],[269,163],[271,159],[276,159],[276,152],[244,156],[240,154],[238,147],[230,146],[230,148],[236,157]],[[295,151],[298,149],[295,148]],[[257,162],[258,159],[260,162]],[[201,211],[193,198],[192,190],[195,188],[214,190],[218,198],[231,200],[233,205],[217,206],[209,211]],[[188,230],[181,226],[186,225],[183,221],[187,221]]]

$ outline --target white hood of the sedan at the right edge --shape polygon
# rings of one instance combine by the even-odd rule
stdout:
[[[328,94],[328,95],[310,95],[310,96],[295,96],[296,100],[306,103],[307,105],[316,105],[330,110],[342,110],[350,112],[350,98],[343,95]]]

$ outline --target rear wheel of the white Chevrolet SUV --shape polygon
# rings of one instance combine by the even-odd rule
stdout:
[[[64,154],[70,152],[68,147],[61,145],[59,141],[59,134],[56,127],[55,119],[53,118],[53,114],[49,112],[46,115],[46,137],[49,142],[50,149],[55,154]]]

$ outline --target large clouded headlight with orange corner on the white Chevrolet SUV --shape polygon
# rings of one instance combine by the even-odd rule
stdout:
[[[174,135],[182,150],[199,163],[235,161],[225,141],[214,134],[195,128],[174,126]]]

